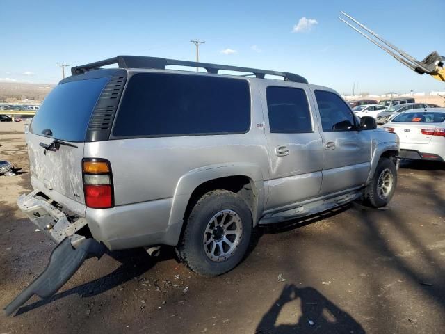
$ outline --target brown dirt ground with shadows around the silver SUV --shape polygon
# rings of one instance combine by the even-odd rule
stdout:
[[[0,306],[44,269],[52,241],[17,211],[30,191],[23,125],[0,123]],[[164,248],[87,260],[0,333],[444,333],[445,166],[404,162],[389,207],[347,205],[257,230],[233,271],[202,278]],[[124,223],[124,222],[122,222]]]

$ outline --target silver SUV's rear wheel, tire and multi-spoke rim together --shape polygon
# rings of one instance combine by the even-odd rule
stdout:
[[[188,216],[177,255],[192,271],[217,276],[243,259],[251,233],[252,213],[245,201],[231,191],[209,191]]]

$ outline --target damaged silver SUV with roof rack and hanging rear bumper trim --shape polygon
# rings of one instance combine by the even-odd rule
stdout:
[[[46,285],[31,284],[8,312],[54,293],[106,249],[171,245],[189,269],[225,273],[258,225],[356,199],[382,207],[397,182],[396,134],[354,116],[334,90],[297,74],[164,58],[73,67],[26,142],[35,190],[17,202],[58,246]]]

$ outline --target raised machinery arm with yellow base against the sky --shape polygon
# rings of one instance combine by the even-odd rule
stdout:
[[[350,15],[341,12],[347,19],[350,19],[350,22],[353,22],[353,24],[350,24],[349,22],[346,22],[345,19],[339,17],[341,21],[348,24],[352,29],[357,31],[360,35],[363,35],[365,38],[373,42],[375,45],[380,47],[380,49],[386,51],[388,54],[393,56],[397,61],[400,61],[403,63],[403,65],[409,67],[414,72],[417,72],[419,74],[430,74],[431,77],[434,79],[437,79],[439,81],[445,82],[445,57],[440,56],[436,51],[431,52],[426,56],[423,61],[418,61],[416,58],[410,56],[402,49],[399,49],[395,45],[392,45],[387,40],[384,40],[381,38],[377,33],[373,32],[371,29],[364,26],[364,24],[361,24],[356,19],[351,17]],[[364,29],[366,33],[362,30],[360,30],[358,27]]]

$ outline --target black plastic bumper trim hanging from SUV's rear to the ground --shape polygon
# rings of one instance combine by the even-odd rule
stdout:
[[[95,239],[85,239],[76,248],[72,246],[69,238],[63,239],[52,251],[47,268],[6,306],[4,309],[6,315],[12,315],[34,294],[40,298],[52,296],[67,283],[86,258],[95,256],[99,259],[104,255],[105,250],[105,246]]]

